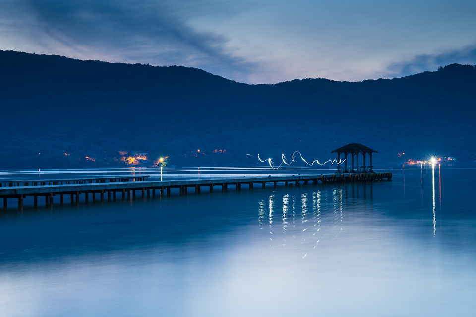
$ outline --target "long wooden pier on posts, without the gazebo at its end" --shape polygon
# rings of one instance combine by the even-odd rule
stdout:
[[[237,178],[206,178],[174,181],[149,181],[148,175],[120,176],[85,179],[63,179],[63,180],[25,180],[25,181],[0,181],[0,198],[3,198],[3,210],[7,209],[8,198],[18,199],[18,209],[23,209],[23,199],[27,196],[33,197],[34,207],[38,206],[38,197],[45,197],[45,205],[53,205],[53,197],[59,195],[60,203],[64,203],[64,195],[70,196],[71,204],[79,203],[80,196],[84,196],[84,201],[89,201],[91,194],[93,202],[96,195],[104,201],[104,195],[108,200],[116,199],[119,193],[121,199],[135,198],[136,191],[141,192],[143,199],[156,196],[156,191],[160,197],[170,197],[172,188],[179,189],[179,195],[186,195],[188,188],[194,188],[195,194],[201,192],[203,186],[208,187],[210,193],[214,187],[219,187],[222,192],[228,191],[229,186],[236,191],[241,190],[245,185],[248,189],[253,189],[255,185],[265,188],[267,184],[277,187],[278,183],[288,186],[290,183],[307,185],[309,182],[317,184],[347,181],[382,181],[390,180],[392,173],[332,173],[320,175],[287,175],[287,176],[263,176],[263,177],[237,177]]]

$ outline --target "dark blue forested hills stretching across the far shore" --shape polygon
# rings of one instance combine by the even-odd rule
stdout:
[[[376,164],[427,154],[476,160],[476,70],[248,85],[182,66],[0,51],[0,169],[309,160],[356,142]],[[198,151],[200,150],[200,151]],[[119,151],[123,151],[119,154]],[[127,154],[123,154],[128,152]],[[398,157],[405,152],[406,156]]]

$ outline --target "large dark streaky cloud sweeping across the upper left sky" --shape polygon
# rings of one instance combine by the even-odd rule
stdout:
[[[17,1],[24,17],[34,21],[35,33],[41,35],[34,40],[43,46],[60,43],[91,58],[99,53],[124,61],[193,66],[241,79],[253,67],[226,50],[226,38],[200,32],[188,22],[213,12],[219,6],[213,0]],[[227,14],[222,7],[223,12]]]

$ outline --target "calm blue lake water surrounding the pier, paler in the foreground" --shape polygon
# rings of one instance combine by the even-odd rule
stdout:
[[[476,169],[392,172],[0,210],[0,316],[474,316]]]

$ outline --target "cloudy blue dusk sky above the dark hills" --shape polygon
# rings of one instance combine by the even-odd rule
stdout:
[[[0,49],[361,81],[475,65],[475,17],[475,0],[0,0]]]

